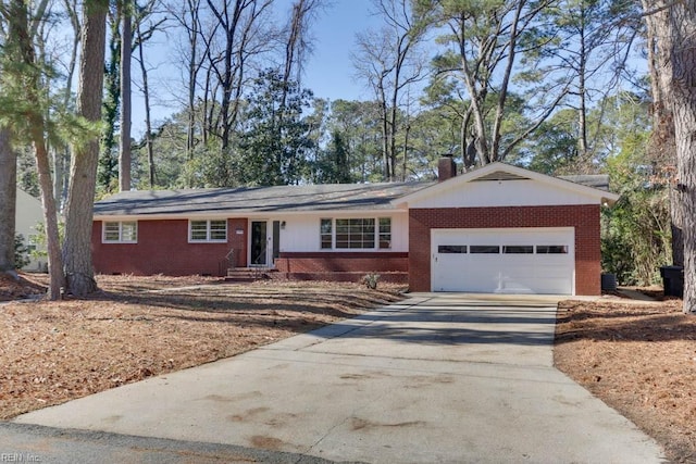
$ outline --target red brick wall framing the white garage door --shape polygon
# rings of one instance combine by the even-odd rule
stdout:
[[[600,294],[599,205],[411,209],[409,289],[431,291],[431,228],[574,227],[575,293]]]

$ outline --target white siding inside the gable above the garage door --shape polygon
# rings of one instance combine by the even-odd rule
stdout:
[[[409,208],[540,206],[597,204],[595,197],[560,189],[538,180],[483,180],[464,185],[409,203]]]

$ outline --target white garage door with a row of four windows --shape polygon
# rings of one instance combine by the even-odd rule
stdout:
[[[574,294],[573,228],[433,229],[433,291]]]

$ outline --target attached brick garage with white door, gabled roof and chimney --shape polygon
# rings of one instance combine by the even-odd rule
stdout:
[[[619,199],[606,176],[455,174],[445,158],[438,184],[393,201],[409,211],[411,291],[600,294],[600,209]]]

